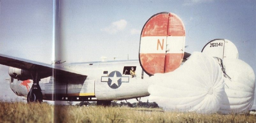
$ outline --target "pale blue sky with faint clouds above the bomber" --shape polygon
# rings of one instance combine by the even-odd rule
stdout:
[[[208,41],[228,39],[239,59],[256,70],[256,1],[71,1],[62,0],[60,38],[56,60],[70,62],[138,59],[143,25],[156,13],[179,16],[185,26],[185,52],[201,51]],[[0,54],[51,63],[53,48],[53,1],[0,1]],[[0,66],[2,85],[8,67]],[[6,88],[0,90],[13,93]],[[6,89],[6,90],[4,90]],[[8,96],[7,96],[8,97]]]

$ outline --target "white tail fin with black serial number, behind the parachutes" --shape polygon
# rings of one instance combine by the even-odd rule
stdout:
[[[226,39],[211,40],[204,46],[201,52],[221,59],[238,59],[237,47],[230,40]]]

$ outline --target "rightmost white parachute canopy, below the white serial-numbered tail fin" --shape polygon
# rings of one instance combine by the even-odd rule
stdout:
[[[225,95],[220,113],[247,112],[254,99],[255,75],[253,69],[244,61],[239,59],[224,59],[226,74],[224,78]]]

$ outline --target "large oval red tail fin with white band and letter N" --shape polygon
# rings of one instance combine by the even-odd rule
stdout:
[[[185,27],[173,13],[161,12],[149,18],[142,28],[139,62],[148,75],[177,69],[184,56]]]

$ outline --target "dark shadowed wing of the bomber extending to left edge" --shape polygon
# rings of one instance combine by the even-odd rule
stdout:
[[[78,73],[77,71],[64,68],[63,66],[61,66],[61,64],[51,65],[51,64],[35,62],[35,61],[13,57],[9,55],[4,55],[4,54],[0,54],[0,64],[14,67],[14,68],[19,68],[19,69],[25,69],[29,71],[37,71],[38,74],[41,76],[41,78],[53,76],[53,70],[55,74],[58,76],[65,76],[65,77],[72,77],[72,78],[86,77],[86,75]]]

